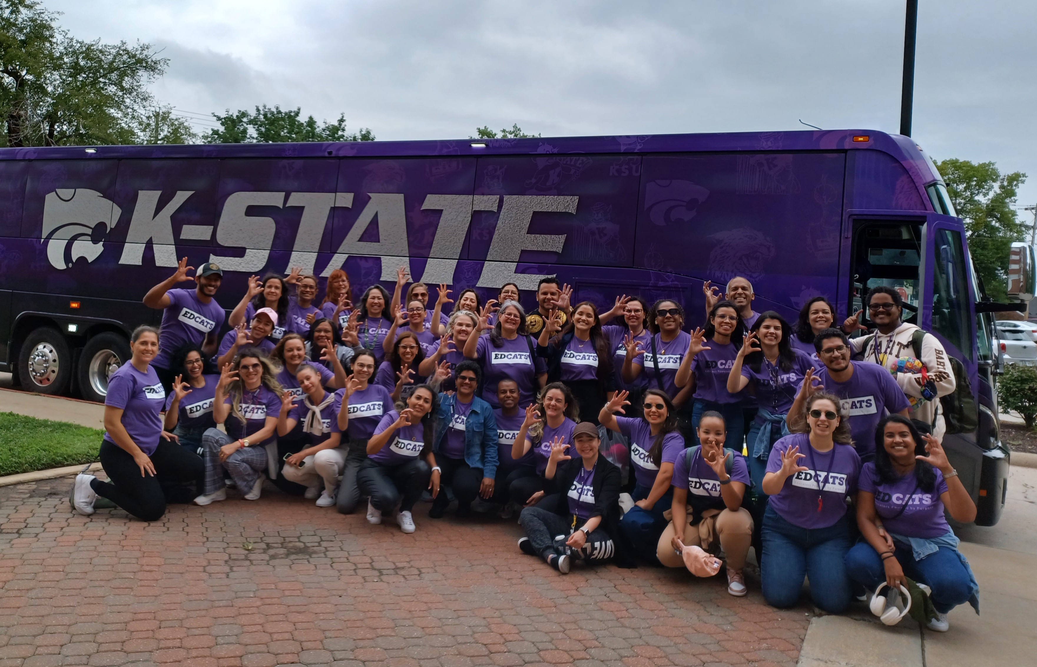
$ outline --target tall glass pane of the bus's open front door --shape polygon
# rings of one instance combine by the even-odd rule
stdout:
[[[970,298],[961,233],[953,229],[936,229],[933,256],[936,261],[932,273],[932,330],[971,360]]]

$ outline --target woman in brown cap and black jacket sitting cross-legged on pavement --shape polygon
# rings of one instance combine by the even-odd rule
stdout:
[[[604,561],[617,555],[610,533],[618,535],[619,468],[598,455],[601,441],[591,422],[577,424],[572,442],[574,446],[557,437],[551,441],[544,476],[557,493],[518,516],[526,530],[518,548],[563,575],[571,559]]]

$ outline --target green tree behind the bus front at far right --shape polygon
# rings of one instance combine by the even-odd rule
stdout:
[[[969,252],[988,296],[1006,299],[1008,254],[1029,225],[1015,215],[1015,194],[1027,178],[1020,171],[1003,174],[992,162],[949,158],[936,163],[951,202],[965,223]]]

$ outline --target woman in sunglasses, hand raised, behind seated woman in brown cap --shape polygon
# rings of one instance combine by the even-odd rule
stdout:
[[[627,392],[613,396],[598,420],[610,430],[626,436],[634,466],[635,506],[619,522],[619,528],[638,555],[654,563],[655,544],[666,528],[664,512],[670,509],[673,492],[673,465],[684,450],[684,439],[677,430],[677,415],[665,391],[648,389],[642,404],[644,417],[618,417],[623,413]]]

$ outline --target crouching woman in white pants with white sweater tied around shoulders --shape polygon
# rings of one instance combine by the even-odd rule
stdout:
[[[316,498],[317,507],[331,507],[335,504],[338,469],[345,461],[345,452],[339,447],[342,433],[338,428],[335,394],[320,386],[320,372],[309,364],[299,367],[296,379],[303,389],[303,399],[293,404],[291,393],[281,394],[277,433],[286,435],[302,423],[309,446],[288,456],[282,473],[288,481],[306,487],[305,497]]]

